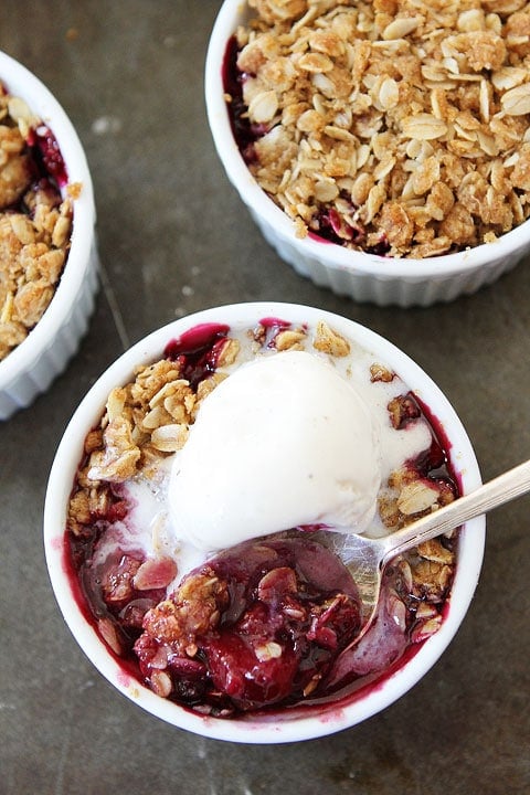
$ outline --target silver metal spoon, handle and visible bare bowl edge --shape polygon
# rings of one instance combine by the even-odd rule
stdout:
[[[362,598],[362,625],[348,648],[359,643],[373,622],[381,590],[382,573],[390,560],[407,550],[443,536],[449,530],[497,508],[530,490],[530,460],[499,475],[475,491],[459,497],[411,524],[383,538],[371,539],[351,532],[333,532],[331,549],[350,570]],[[339,530],[339,528],[335,528]],[[346,530],[346,528],[343,529]]]

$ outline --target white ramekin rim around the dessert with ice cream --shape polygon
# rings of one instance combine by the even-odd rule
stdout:
[[[436,662],[457,632],[477,585],[485,539],[484,517],[467,522],[462,531],[456,574],[448,610],[439,630],[377,688],[344,699],[339,704],[273,713],[266,719],[201,717],[147,689],[127,675],[86,619],[72,591],[66,573],[65,528],[67,505],[76,469],[83,455],[83,442],[97,424],[109,391],[126,383],[138,364],[160,358],[166,344],[188,329],[204,322],[227,324],[234,329],[254,327],[264,317],[280,317],[295,324],[315,325],[324,319],[339,333],[359,342],[383,360],[430,407],[451,443],[451,459],[462,489],[480,484],[475,454],[464,427],[447,399],[435,383],[405,353],[393,344],[344,318],[320,309],[292,304],[240,304],[212,308],[181,318],[135,344],[94,384],[72,417],[59,446],[50,475],[44,510],[44,544],[51,583],[64,619],[75,639],[95,667],[114,687],[142,709],[181,729],[198,734],[244,743],[282,743],[317,738],[352,727],[383,710],[412,688]]]

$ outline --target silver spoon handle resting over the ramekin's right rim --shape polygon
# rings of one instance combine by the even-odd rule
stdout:
[[[405,552],[422,541],[428,541],[448,530],[454,530],[468,519],[481,516],[492,508],[527,494],[527,491],[530,491],[530,460],[519,464],[479,486],[475,491],[458,497],[444,508],[439,508],[388,536],[384,539],[385,549],[382,562],[386,563],[390,558]]]

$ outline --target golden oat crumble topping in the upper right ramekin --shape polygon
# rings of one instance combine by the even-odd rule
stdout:
[[[426,257],[530,215],[523,0],[248,0],[237,65],[250,168],[295,222]],[[227,97],[229,102],[231,97]]]

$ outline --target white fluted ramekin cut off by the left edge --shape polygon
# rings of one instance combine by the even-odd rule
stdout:
[[[76,352],[94,309],[97,250],[92,179],[72,123],[41,81],[4,53],[0,53],[0,80],[50,127],[68,182],[82,184],[74,200],[68,259],[55,295],[26,339],[0,361],[0,420],[7,420],[47,390]]]

